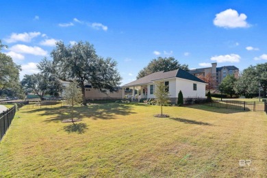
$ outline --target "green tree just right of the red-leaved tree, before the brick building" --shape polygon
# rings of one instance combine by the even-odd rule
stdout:
[[[218,86],[219,90],[221,92],[224,92],[225,94],[229,94],[230,97],[233,97],[233,94],[236,94],[236,91],[234,90],[235,83],[237,79],[235,75],[227,75],[223,81]]]

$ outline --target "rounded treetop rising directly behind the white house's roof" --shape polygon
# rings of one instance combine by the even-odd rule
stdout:
[[[157,59],[151,60],[151,62],[149,62],[149,64],[146,67],[144,67],[141,71],[139,71],[136,78],[140,79],[151,73],[160,72],[160,71],[173,71],[178,68],[181,68],[185,71],[189,71],[188,65],[179,64],[179,62],[175,60],[175,58],[173,57],[169,57],[169,58],[158,57]]]

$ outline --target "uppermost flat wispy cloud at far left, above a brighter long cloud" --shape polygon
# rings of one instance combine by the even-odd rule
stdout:
[[[32,38],[35,38],[37,36],[39,36],[41,33],[40,32],[29,32],[29,33],[23,33],[23,34],[16,34],[16,33],[12,33],[11,36],[9,38],[5,38],[5,42],[18,42],[18,41],[22,41],[22,42],[31,42]]]

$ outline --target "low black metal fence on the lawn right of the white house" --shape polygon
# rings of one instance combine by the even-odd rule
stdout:
[[[267,113],[266,103],[262,101],[214,100],[212,103],[207,103],[207,105],[214,107],[223,107],[232,110],[256,111]]]

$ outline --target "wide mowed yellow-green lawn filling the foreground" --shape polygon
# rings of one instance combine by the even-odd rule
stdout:
[[[267,116],[192,105],[22,107],[0,143],[0,177],[267,177]],[[251,165],[240,166],[240,160]]]

